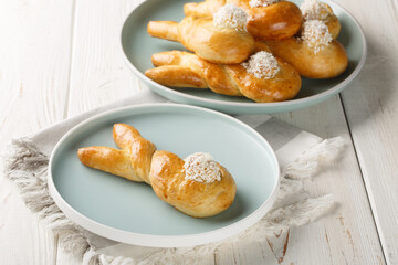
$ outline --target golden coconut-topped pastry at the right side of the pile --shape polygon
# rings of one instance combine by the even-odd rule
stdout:
[[[281,41],[265,41],[272,53],[293,65],[308,78],[332,78],[348,66],[344,46],[333,40],[327,25],[320,20],[307,20],[301,35]]]

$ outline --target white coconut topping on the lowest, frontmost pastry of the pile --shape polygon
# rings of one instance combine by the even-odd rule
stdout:
[[[251,55],[248,62],[241,64],[249,74],[254,75],[259,80],[270,80],[275,77],[280,67],[277,60],[269,52],[258,52]]]

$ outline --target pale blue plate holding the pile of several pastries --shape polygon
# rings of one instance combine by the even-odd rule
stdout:
[[[254,103],[244,97],[232,97],[214,94],[210,91],[192,88],[169,88],[147,78],[144,73],[154,67],[150,56],[154,53],[185,50],[182,45],[166,40],[150,38],[147,24],[150,20],[180,21],[184,18],[182,7],[193,0],[147,0],[137,7],[126,19],[122,29],[122,51],[127,65],[154,92],[177,103],[191,104],[218,109],[231,114],[266,114],[282,113],[308,107],[321,103],[328,97],[342,92],[359,73],[365,63],[366,42],[364,33],[357,21],[335,2],[328,3],[342,24],[338,41],[345,46],[349,65],[341,76],[332,80],[316,81],[303,78],[303,87],[298,95],[281,103]],[[302,0],[292,0],[301,4]]]

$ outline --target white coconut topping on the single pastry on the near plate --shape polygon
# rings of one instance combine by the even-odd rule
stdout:
[[[219,166],[210,153],[195,152],[184,159],[186,170],[186,180],[211,183],[221,180]]]

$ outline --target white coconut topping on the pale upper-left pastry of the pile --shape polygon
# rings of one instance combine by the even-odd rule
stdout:
[[[213,13],[213,23],[217,26],[231,28],[238,31],[247,31],[248,13],[232,3],[227,3]]]

